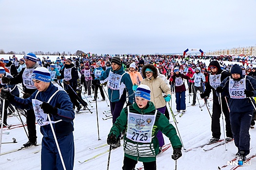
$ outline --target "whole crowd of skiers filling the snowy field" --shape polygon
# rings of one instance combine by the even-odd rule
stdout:
[[[209,59],[210,64],[207,66],[200,59]],[[255,125],[255,78],[256,68],[252,64],[226,65],[223,57],[214,60],[208,56],[88,53],[70,58],[59,56],[52,61],[33,53],[19,60],[13,55],[9,60],[0,59],[2,124],[8,128],[8,110],[13,111],[13,106],[25,109],[28,142],[22,147],[37,146],[35,122],[38,122],[43,135],[41,161],[48,162],[42,164],[41,169],[72,170],[75,112],[79,113],[82,107],[90,110],[88,102],[97,103],[99,90],[101,101],[107,98],[110,101],[113,116],[107,143],[114,149],[120,147],[120,139],[124,139],[122,169],[134,170],[141,161],[145,170],[156,170],[156,156],[165,144],[162,134],[171,141],[172,158],[177,160],[182,156],[183,144],[177,135],[177,126],[168,120],[173,114],[168,111],[172,109],[172,96],[176,99],[177,113],[183,115],[187,98],[189,101],[192,98],[191,106],[197,102],[200,106],[198,97],[207,105],[212,93],[209,143],[220,140],[220,117],[224,114],[225,141],[234,140],[238,161],[245,161],[250,153],[249,129]]]

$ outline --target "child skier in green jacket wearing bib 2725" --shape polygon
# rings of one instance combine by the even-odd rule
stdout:
[[[122,109],[107,138],[113,145],[117,136],[126,128],[124,136],[124,160],[122,170],[134,170],[138,161],[143,162],[144,170],[157,170],[156,156],[159,151],[158,130],[169,137],[172,147],[172,158],[177,160],[181,155],[182,144],[175,127],[156,110],[150,102],[150,88],[139,85],[135,92],[136,102]]]

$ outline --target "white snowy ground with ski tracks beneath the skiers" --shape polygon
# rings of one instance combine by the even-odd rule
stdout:
[[[205,61],[209,64],[209,61]],[[232,62],[235,64],[235,62]],[[188,93],[188,92],[187,92]],[[98,94],[101,100],[100,94]],[[199,95],[197,95],[199,97]],[[172,108],[176,114],[176,104],[175,95],[172,96]],[[211,96],[210,96],[211,98]],[[92,100],[92,98],[90,99]],[[109,101],[107,101],[109,104]],[[200,104],[203,104],[203,100],[199,100]],[[192,97],[187,94],[186,105],[189,106],[192,103]],[[198,102],[197,102],[198,103]],[[212,108],[212,102],[209,100],[210,108]],[[96,104],[92,103],[89,108],[96,108]],[[84,161],[92,158],[99,153],[107,151],[109,146],[104,146],[102,148],[94,149],[100,145],[106,144],[106,138],[112,127],[112,119],[103,120],[106,118],[103,111],[109,110],[106,102],[98,102],[98,124],[99,124],[99,138],[98,140],[98,128],[97,128],[97,114],[96,109],[93,109],[93,114],[91,113],[81,113],[76,115],[74,119],[74,139],[75,139],[75,165],[74,170],[106,170],[108,153],[104,153],[95,159],[92,159],[85,163],[79,163],[79,161]],[[211,137],[211,117],[207,111],[206,106],[203,106],[201,111],[198,104],[196,106],[187,107],[186,113],[179,118],[177,118],[177,126],[179,133],[181,135],[185,149],[190,149],[192,147],[199,146],[206,143]],[[210,109],[212,111],[212,109]],[[25,121],[25,118],[22,117]],[[172,118],[170,119],[172,120]],[[174,122],[171,122],[174,126]],[[16,117],[9,117],[8,124],[20,124]],[[223,136],[223,126],[222,119],[220,119],[221,124],[221,138]],[[1,146],[1,156],[0,156],[0,170],[39,170],[40,169],[40,145],[37,147],[28,148],[14,153],[4,154],[9,151],[19,149],[23,143],[27,142],[27,137],[24,132],[23,127],[14,128],[12,130],[3,129],[3,133],[9,132],[9,135],[2,136],[2,142],[12,141],[15,137],[18,143],[15,144],[2,144]],[[39,126],[37,125],[38,134],[38,144],[41,143],[42,135],[39,132]],[[248,156],[256,154],[256,129],[250,129],[251,135],[251,153]],[[165,136],[164,136],[165,137]],[[122,143],[122,141],[121,141]],[[168,138],[165,137],[165,143],[168,144]],[[203,149],[210,148],[217,144],[212,144],[205,146]],[[194,149],[190,152],[183,152],[182,157],[177,160],[177,170],[217,170],[217,167],[221,167],[227,164],[227,161],[234,158],[237,149],[233,142],[226,145],[227,151],[225,151],[225,146],[219,146],[211,151],[203,151],[202,148]],[[157,158],[158,170],[174,170],[175,161],[171,159],[172,148],[168,149],[166,152],[161,153]],[[111,152],[110,159],[110,170],[121,170],[123,162],[123,149],[119,147],[118,149]],[[251,160],[250,166],[239,167],[239,170],[256,170],[256,158]],[[137,168],[141,167],[142,163],[138,162]],[[223,168],[224,170],[230,170],[233,166],[228,166]]]

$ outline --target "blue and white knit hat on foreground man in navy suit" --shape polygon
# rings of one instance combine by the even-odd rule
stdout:
[[[51,74],[47,68],[39,67],[36,68],[31,76],[32,80],[36,79],[45,83],[51,82]]]

